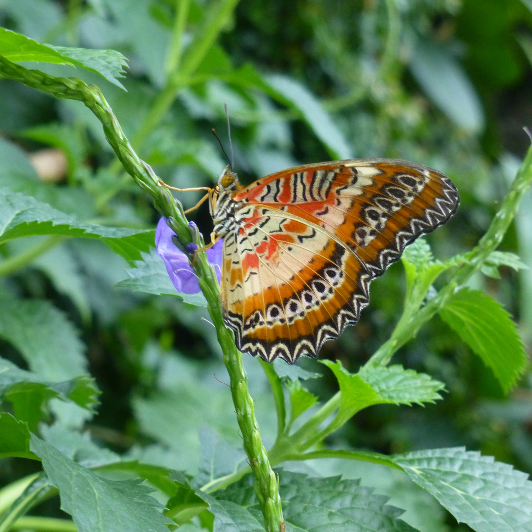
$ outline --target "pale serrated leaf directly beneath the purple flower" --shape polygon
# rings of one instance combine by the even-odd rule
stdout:
[[[184,294],[178,292],[173,286],[163,260],[155,250],[142,253],[143,260],[135,261],[136,268],[126,270],[129,279],[120,281],[119,288],[129,288],[134,292],[146,294],[165,295],[178,297],[185,303],[196,306],[207,306],[207,301],[201,292],[197,294]]]

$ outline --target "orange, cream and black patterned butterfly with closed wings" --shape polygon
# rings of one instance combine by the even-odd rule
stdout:
[[[240,351],[293,364],[354,325],[369,285],[458,209],[452,181],[392,159],[304,164],[210,191],[223,237],[221,298]]]

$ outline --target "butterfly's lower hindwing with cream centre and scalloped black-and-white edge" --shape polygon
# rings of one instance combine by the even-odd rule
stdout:
[[[320,227],[268,207],[242,211],[238,232],[226,237],[222,276],[226,321],[239,348],[290,363],[316,356],[356,321],[353,294],[363,264]]]

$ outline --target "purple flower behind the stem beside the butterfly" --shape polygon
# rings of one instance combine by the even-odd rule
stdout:
[[[157,255],[159,255],[164,261],[170,280],[172,281],[173,286],[176,287],[177,291],[184,294],[196,294],[197,292],[200,292],[198,277],[192,269],[192,266],[188,263],[188,256],[172,242],[172,237],[174,236],[176,235],[168,227],[166,218],[161,218],[159,223],[157,223],[157,230],[155,231]],[[190,249],[191,253],[194,253],[194,246],[189,244],[187,246],[187,251]],[[209,259],[209,262],[214,266],[218,282],[220,282],[221,277],[222,252],[222,238],[207,250],[207,259]]]

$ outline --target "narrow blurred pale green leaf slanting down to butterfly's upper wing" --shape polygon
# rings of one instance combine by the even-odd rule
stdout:
[[[304,85],[287,76],[272,74],[265,81],[295,109],[299,110],[314,134],[327,147],[335,159],[349,159],[351,147],[343,132],[332,121],[316,98]]]

